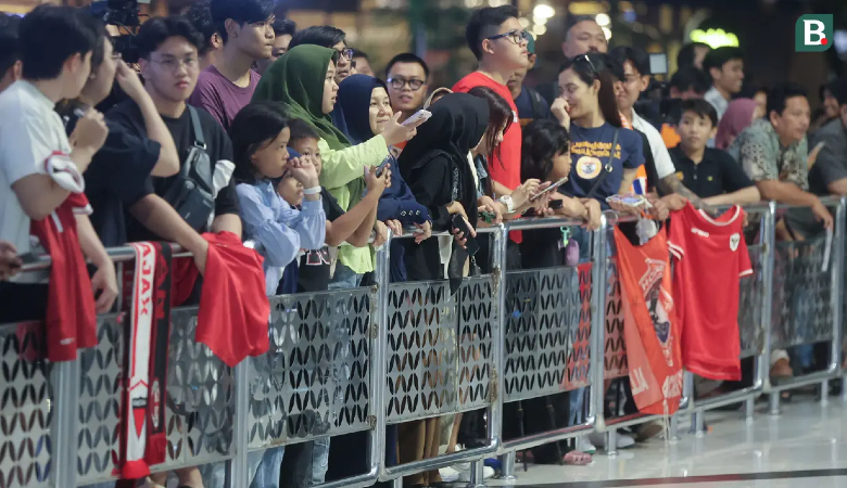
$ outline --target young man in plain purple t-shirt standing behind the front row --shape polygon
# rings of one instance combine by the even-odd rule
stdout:
[[[211,0],[208,9],[224,50],[203,69],[189,99],[224,127],[253,98],[261,76],[253,65],[274,53],[273,0]]]

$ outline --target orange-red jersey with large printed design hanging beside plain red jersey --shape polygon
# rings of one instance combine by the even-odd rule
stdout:
[[[634,246],[616,227],[615,243],[632,396],[642,413],[671,415],[682,397],[682,354],[665,230]]]

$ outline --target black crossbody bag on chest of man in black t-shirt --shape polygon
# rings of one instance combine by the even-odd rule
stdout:
[[[215,211],[214,166],[206,153],[197,108],[189,105],[188,111],[194,143],[164,198],[192,229],[200,232],[208,226],[208,218]]]

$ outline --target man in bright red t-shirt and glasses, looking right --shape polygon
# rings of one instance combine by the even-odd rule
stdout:
[[[518,107],[506,86],[509,77],[529,63],[529,33],[518,22],[518,10],[511,5],[479,9],[468,21],[465,39],[479,60],[479,69],[462,78],[453,91],[467,92],[473,87],[489,87],[508,102],[515,123],[503,137],[500,153],[489,168],[494,194],[511,208],[508,195],[520,185],[520,140]]]

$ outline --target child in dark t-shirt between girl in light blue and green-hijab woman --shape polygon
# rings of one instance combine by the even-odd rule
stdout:
[[[323,160],[320,159],[320,150],[318,149],[319,136],[315,132],[315,129],[302,120],[291,120],[289,127],[291,128],[289,145],[300,153],[302,157],[309,158],[315,165],[318,176],[320,176]],[[371,169],[366,174],[365,181],[367,183],[365,196],[346,213],[344,213],[336,198],[329,194],[327,189],[320,189],[324,213],[327,214],[326,245],[320,251],[307,251],[301,257],[298,280],[299,293],[324,292],[328,290],[331,278],[329,246],[338,246],[342,242],[356,247],[368,245],[370,231],[374,229],[374,222],[377,219],[379,197],[382,196],[382,192],[385,191],[389,181],[391,181],[390,170],[385,170],[381,177],[377,177]],[[277,184],[277,192],[290,205],[300,205],[300,201],[303,200],[303,188],[293,178],[283,176]]]

